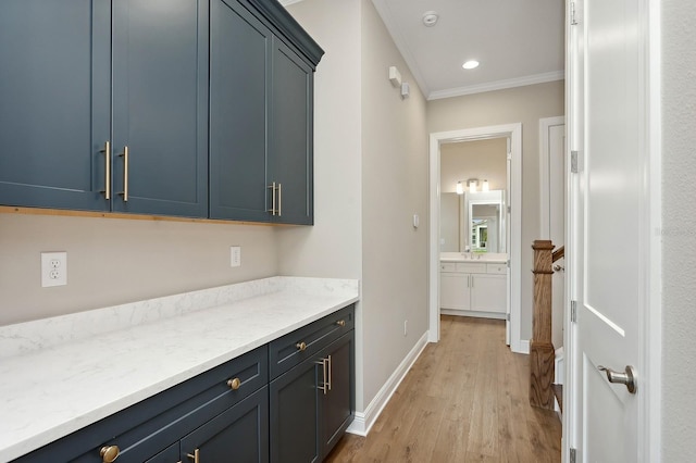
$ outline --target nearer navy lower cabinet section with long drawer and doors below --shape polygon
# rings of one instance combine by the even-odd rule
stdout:
[[[260,347],[16,462],[266,462],[269,356]],[[233,447],[239,446],[239,447]],[[210,455],[240,455],[215,459]]]

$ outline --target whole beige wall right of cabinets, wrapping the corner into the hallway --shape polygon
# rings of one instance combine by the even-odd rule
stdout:
[[[279,266],[362,279],[363,411],[427,330],[425,100],[369,0],[304,0],[288,11],[326,55],[315,82],[316,225],[278,233]],[[391,87],[390,65],[411,84],[410,98]]]

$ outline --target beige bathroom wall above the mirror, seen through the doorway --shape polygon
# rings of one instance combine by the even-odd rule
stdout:
[[[508,142],[505,138],[460,141],[440,146],[439,185],[442,192],[456,191],[457,182],[488,180],[492,190],[506,189]]]

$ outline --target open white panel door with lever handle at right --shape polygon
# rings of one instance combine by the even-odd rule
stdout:
[[[581,462],[646,460],[637,435],[646,393],[638,321],[648,310],[651,271],[647,2],[569,2],[577,23],[569,26],[569,148],[580,155],[579,173],[569,177],[567,270],[577,322],[567,325],[572,343],[567,447]],[[600,371],[621,374],[626,365],[637,374],[634,393]]]

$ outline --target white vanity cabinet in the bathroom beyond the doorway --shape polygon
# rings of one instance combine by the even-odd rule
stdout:
[[[440,262],[443,313],[504,317],[507,266],[490,262]]]

